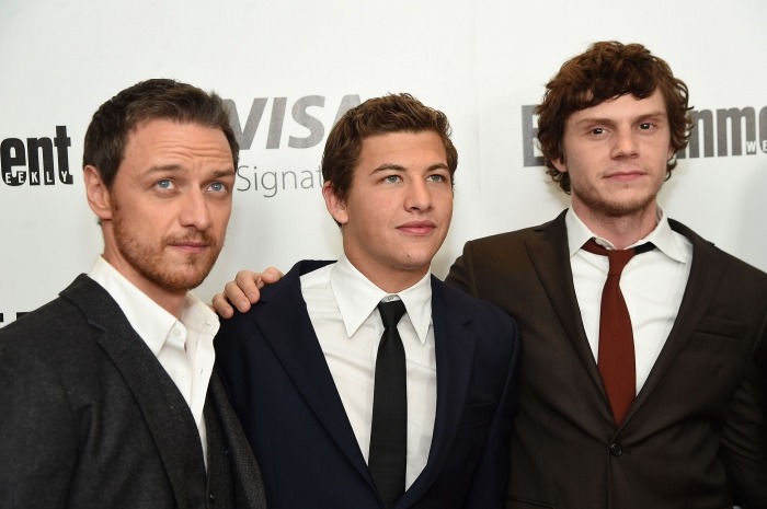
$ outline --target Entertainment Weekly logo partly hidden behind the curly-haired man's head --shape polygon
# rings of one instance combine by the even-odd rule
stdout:
[[[525,166],[542,166],[537,146],[538,128],[534,105],[522,106],[522,144]],[[687,149],[677,159],[728,158],[767,153],[767,106],[758,113],[742,108],[694,109]],[[716,135],[714,135],[716,134]],[[745,135],[745,136],[744,136]]]

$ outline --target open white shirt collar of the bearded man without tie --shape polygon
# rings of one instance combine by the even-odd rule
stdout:
[[[216,313],[191,292],[187,292],[184,299],[181,320],[176,320],[126,279],[103,256],[96,258],[88,275],[115,300],[130,326],[154,356],[162,349],[176,322],[205,335],[213,336],[218,332],[219,322]]]

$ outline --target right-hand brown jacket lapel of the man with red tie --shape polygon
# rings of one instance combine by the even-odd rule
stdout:
[[[674,231],[685,235],[692,244],[692,265],[674,326],[648,375],[646,382],[629,409],[626,420],[648,400],[679,351],[692,337],[692,333],[706,314],[726,268],[726,259],[721,252],[713,247],[713,244],[701,239],[679,222],[672,219],[668,222]]]

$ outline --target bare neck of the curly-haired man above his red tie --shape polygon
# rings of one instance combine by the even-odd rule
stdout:
[[[607,240],[616,250],[625,250],[648,236],[657,225],[657,204],[653,201],[641,210],[610,216],[584,207],[573,200],[573,211],[596,235]]]

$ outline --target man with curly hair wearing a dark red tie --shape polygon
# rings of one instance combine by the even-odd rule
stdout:
[[[508,508],[767,507],[767,276],[656,200],[688,112],[639,44],[566,61],[537,113],[572,207],[468,242],[450,269],[522,329]]]

